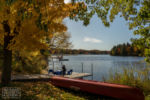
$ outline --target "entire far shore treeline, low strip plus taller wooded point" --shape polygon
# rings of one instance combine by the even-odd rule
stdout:
[[[45,50],[41,50],[41,53]],[[84,50],[84,49],[51,49],[46,51],[48,54],[110,54],[111,56],[144,56],[144,50],[130,43],[123,43],[113,46],[110,51],[102,50]]]

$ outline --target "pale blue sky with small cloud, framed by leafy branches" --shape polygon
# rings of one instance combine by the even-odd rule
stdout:
[[[66,0],[67,2],[69,0]],[[110,50],[114,45],[130,43],[130,39],[135,37],[133,31],[128,29],[127,22],[119,16],[116,16],[109,28],[102,24],[97,15],[93,16],[88,26],[83,26],[83,22],[75,22],[69,18],[66,18],[64,23],[71,34],[72,49]]]

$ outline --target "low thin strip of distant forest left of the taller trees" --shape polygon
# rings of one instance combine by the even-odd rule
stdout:
[[[52,54],[110,54],[110,51],[100,51],[100,50],[83,50],[83,49],[62,49],[62,50],[52,50]]]

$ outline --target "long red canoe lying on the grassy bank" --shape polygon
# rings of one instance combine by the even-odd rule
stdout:
[[[81,79],[70,79],[59,76],[51,78],[55,86],[64,88],[74,88],[89,93],[109,96],[121,100],[144,100],[142,91],[126,85],[110,84],[98,81],[89,81]]]

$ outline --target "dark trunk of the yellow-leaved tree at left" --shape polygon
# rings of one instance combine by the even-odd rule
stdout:
[[[8,25],[7,21],[3,22],[3,28],[5,32],[7,33],[4,36],[4,60],[3,60],[3,70],[2,70],[2,84],[8,85],[11,81],[11,64],[12,64],[12,51],[8,50],[8,44],[12,40],[12,36],[10,36],[10,27]]]

